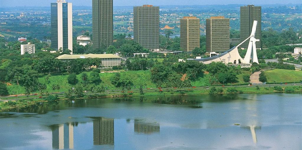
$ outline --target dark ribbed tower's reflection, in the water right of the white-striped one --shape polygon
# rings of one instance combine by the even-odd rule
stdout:
[[[114,145],[114,119],[93,117],[93,145]]]

